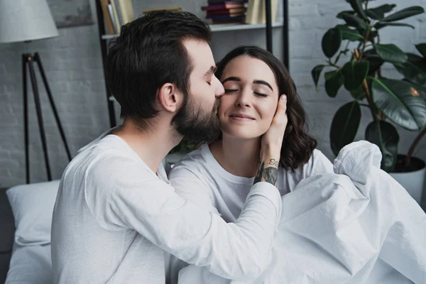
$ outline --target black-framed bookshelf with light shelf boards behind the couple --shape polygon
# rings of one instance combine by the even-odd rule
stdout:
[[[283,21],[278,21],[272,23],[271,21],[271,0],[265,1],[265,12],[266,12],[266,23],[257,23],[257,24],[244,24],[244,23],[223,23],[223,24],[214,24],[210,25],[212,32],[222,32],[222,31],[242,31],[242,30],[251,30],[251,29],[264,29],[266,33],[266,50],[272,53],[272,28],[282,27],[283,28],[283,63],[289,69],[288,66],[288,0],[283,0]],[[105,67],[105,60],[107,58],[107,46],[108,40],[114,38],[118,35],[110,35],[106,33],[106,28],[104,26],[104,14],[102,13],[102,7],[99,3],[99,0],[95,1],[96,10],[97,10],[97,22],[99,29],[99,43],[101,45],[102,53],[102,66]],[[107,90],[107,104],[108,104],[108,114],[109,114],[109,124],[112,127],[116,126],[116,116],[114,110],[115,99],[112,97],[111,92],[107,87],[105,82],[105,89]]]

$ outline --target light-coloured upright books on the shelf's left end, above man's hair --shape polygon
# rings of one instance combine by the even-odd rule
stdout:
[[[133,21],[133,6],[131,0],[99,1],[101,2],[107,33],[119,34],[121,26]]]

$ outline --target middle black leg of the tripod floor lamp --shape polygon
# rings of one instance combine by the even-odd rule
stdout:
[[[40,96],[38,95],[37,81],[35,80],[33,58],[31,57],[28,58],[28,67],[30,70],[31,86],[33,87],[35,111],[37,112],[38,129],[40,130],[41,146],[43,147],[46,172],[48,174],[48,180],[52,180],[48,157],[48,146],[46,143],[45,129],[43,125],[43,115],[41,114]]]

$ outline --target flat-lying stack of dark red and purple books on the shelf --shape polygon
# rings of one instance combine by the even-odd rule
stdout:
[[[208,0],[207,6],[202,6],[206,11],[206,18],[212,23],[244,23],[246,19],[248,0]]]

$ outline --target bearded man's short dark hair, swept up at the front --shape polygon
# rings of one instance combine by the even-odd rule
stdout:
[[[158,114],[155,94],[165,83],[183,92],[185,107],[192,62],[182,41],[210,38],[209,25],[189,12],[152,11],[122,26],[109,45],[105,71],[121,117],[146,128],[146,120]]]

